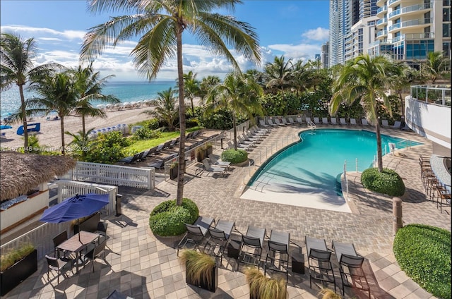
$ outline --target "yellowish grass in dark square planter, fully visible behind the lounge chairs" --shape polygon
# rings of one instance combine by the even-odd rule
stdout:
[[[215,293],[218,287],[218,267],[210,255],[187,249],[182,251],[185,263],[185,282]]]

